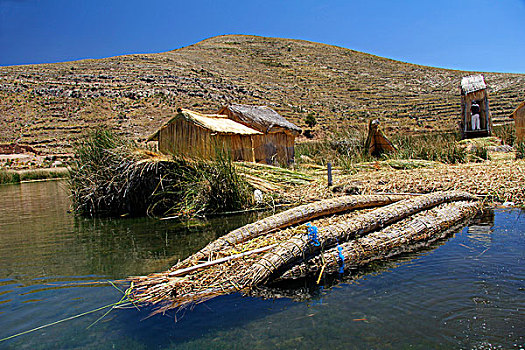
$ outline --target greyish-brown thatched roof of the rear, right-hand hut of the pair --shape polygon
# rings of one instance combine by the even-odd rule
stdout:
[[[279,113],[267,106],[249,106],[232,104],[222,108],[218,113],[226,114],[226,110],[234,113],[240,122],[249,125],[263,133],[275,132],[278,129],[284,129],[293,134],[300,134],[301,129],[283,118]]]

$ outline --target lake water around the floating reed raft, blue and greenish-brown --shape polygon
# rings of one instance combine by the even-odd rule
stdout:
[[[104,282],[166,269],[257,219],[86,219],[68,207],[64,182],[0,186],[0,338],[116,302]],[[525,212],[489,211],[423,252],[279,292],[296,297],[114,310],[92,325],[100,311],[0,348],[523,349]]]

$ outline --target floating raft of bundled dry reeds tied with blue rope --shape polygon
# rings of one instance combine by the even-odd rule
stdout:
[[[161,312],[274,282],[348,274],[443,238],[481,205],[460,191],[351,195],[301,205],[234,230],[167,271],[130,278],[129,296]]]

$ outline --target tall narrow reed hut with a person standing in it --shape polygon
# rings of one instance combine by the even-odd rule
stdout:
[[[463,139],[486,137],[492,133],[488,89],[481,74],[461,79],[460,128]]]

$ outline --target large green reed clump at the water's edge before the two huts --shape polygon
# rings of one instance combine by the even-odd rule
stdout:
[[[97,129],[75,148],[73,209],[87,216],[192,216],[251,204],[251,191],[231,159],[166,159]]]

